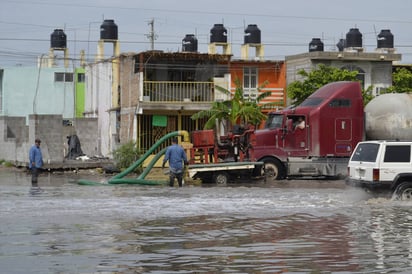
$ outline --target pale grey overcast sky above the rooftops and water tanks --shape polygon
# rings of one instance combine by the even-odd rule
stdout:
[[[207,53],[210,29],[223,23],[234,58],[240,57],[244,29],[256,24],[267,60],[307,52],[315,37],[325,51],[336,51],[350,28],[359,29],[365,51],[372,52],[376,35],[390,29],[401,63],[412,64],[410,0],[0,0],[0,67],[35,65],[48,54],[56,28],[64,29],[71,58],[85,50],[92,59],[104,19],[117,24],[121,52],[150,50],[153,19],[156,50],[181,51],[185,35],[195,34],[198,51]],[[112,52],[107,44],[106,55]]]

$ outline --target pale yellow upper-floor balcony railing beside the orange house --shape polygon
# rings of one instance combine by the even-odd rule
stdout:
[[[213,102],[213,82],[144,81],[144,102]]]

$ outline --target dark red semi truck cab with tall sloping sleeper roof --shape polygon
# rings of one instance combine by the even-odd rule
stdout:
[[[253,146],[266,175],[341,177],[353,149],[364,139],[364,108],[358,82],[327,84],[297,107],[268,115]]]

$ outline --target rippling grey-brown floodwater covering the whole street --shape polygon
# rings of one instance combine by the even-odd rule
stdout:
[[[0,171],[0,273],[411,273],[412,203],[342,181],[82,186]]]

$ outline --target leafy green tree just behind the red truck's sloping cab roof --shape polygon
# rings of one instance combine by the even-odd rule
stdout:
[[[307,78],[304,81],[294,81],[287,87],[288,97],[299,105],[320,87],[336,81],[358,81],[358,71],[349,71],[319,64],[317,69],[310,72],[299,70],[298,75]],[[364,99],[367,94],[364,94]],[[368,100],[369,101],[369,100]]]

